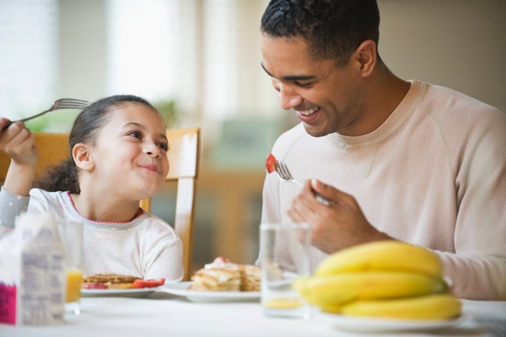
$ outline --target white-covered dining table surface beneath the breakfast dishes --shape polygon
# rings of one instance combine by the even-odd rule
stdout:
[[[336,317],[339,315],[336,315]],[[375,329],[363,323],[343,326],[313,310],[309,319],[268,317],[259,297],[195,300],[164,291],[86,295],[81,312],[65,313],[65,322],[44,326],[0,324],[0,336],[506,336],[506,302],[462,300],[455,324],[441,329]],[[370,329],[364,329],[370,326]],[[353,329],[356,328],[356,329]],[[431,326],[428,326],[431,328]],[[434,328],[434,326],[432,326]]]

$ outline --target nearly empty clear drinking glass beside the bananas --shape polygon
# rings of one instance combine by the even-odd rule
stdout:
[[[308,319],[311,307],[292,288],[299,276],[309,276],[309,224],[260,224],[261,305],[274,317]]]

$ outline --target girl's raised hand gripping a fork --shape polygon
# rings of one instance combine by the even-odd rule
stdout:
[[[36,165],[38,151],[35,136],[22,122],[15,122],[3,130],[9,122],[0,118],[0,151],[4,151],[18,165]]]

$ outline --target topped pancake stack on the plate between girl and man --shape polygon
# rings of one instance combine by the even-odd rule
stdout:
[[[230,262],[216,257],[212,263],[197,270],[188,288],[195,291],[259,291],[260,268]]]

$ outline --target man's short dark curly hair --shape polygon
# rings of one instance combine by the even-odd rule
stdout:
[[[302,37],[315,58],[338,66],[365,40],[377,45],[379,26],[375,0],[271,0],[261,18],[268,37]]]

